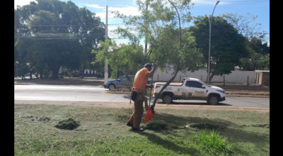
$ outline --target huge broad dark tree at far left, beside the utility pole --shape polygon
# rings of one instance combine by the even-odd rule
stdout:
[[[100,18],[86,8],[79,9],[73,2],[37,0],[30,5],[15,10],[14,32],[17,38],[33,43],[25,50],[25,62],[30,62],[43,71],[45,65],[52,69],[52,78],[57,78],[60,66],[81,69],[91,65],[91,50],[96,48],[98,40],[103,40],[104,28]],[[20,43],[19,42],[19,43]],[[58,45],[61,44],[61,45]],[[47,46],[47,47],[43,47]],[[57,49],[57,50],[56,50]],[[61,51],[58,51],[61,50]],[[71,52],[71,53],[70,53]],[[38,55],[37,55],[38,54]],[[42,60],[42,56],[51,59]]]

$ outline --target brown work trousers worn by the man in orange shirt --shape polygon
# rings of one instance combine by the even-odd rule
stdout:
[[[134,100],[134,111],[128,121],[128,123],[133,124],[134,128],[139,128],[139,125],[141,124],[142,114],[144,113],[144,109],[142,107],[143,103],[144,103],[144,94],[138,92],[137,97]]]

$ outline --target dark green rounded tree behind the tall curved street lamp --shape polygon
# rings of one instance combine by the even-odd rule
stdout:
[[[195,26],[189,31],[195,35],[197,48],[202,49],[204,60],[208,65],[209,52],[209,20],[205,16],[195,18]],[[235,66],[240,65],[240,59],[248,56],[248,40],[224,18],[214,17],[211,30],[211,65],[209,82],[214,75],[230,74]]]

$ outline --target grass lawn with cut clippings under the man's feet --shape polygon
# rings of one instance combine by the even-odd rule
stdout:
[[[156,110],[139,133],[126,126],[131,113],[16,104],[14,155],[270,155],[270,112]],[[69,118],[78,127],[58,128]]]

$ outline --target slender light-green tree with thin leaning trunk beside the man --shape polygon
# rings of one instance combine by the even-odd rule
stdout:
[[[144,56],[155,62],[161,71],[173,69],[173,77],[159,91],[160,95],[178,72],[196,70],[202,59],[202,54],[195,48],[195,38],[182,28],[183,23],[191,20],[190,0],[138,0],[137,5],[141,16],[124,16],[118,11],[114,12],[115,17],[122,18],[127,26],[118,28],[115,33],[137,44],[140,38],[146,36],[149,50],[146,50]],[[130,33],[132,30],[137,35]],[[151,106],[152,111],[156,100]]]

